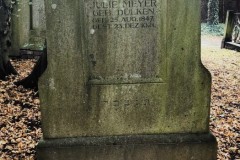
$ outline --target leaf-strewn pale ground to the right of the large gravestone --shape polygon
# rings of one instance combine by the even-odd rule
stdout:
[[[210,129],[219,160],[240,160],[240,53],[204,48],[202,61],[212,74]]]

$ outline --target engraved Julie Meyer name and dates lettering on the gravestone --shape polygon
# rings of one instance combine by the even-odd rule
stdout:
[[[157,0],[94,0],[92,29],[155,28]]]

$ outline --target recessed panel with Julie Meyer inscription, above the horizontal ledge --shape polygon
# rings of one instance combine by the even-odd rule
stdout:
[[[85,2],[88,55],[94,82],[163,81],[165,3],[161,0]]]

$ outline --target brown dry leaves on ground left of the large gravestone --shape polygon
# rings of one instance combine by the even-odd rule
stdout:
[[[0,81],[0,159],[34,159],[42,136],[38,93],[13,82],[26,77],[34,61],[14,61],[19,76]]]

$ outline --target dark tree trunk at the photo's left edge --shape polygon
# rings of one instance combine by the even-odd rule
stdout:
[[[17,74],[8,58],[11,47],[11,0],[0,0],[0,79]]]

